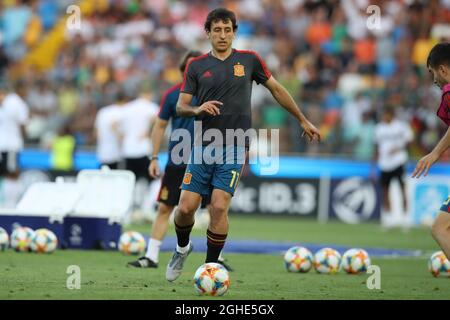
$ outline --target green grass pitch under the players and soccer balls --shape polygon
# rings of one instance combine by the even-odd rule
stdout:
[[[148,233],[150,225],[127,229]],[[173,235],[173,228],[169,234]],[[204,235],[194,231],[193,235]],[[450,279],[434,278],[427,258],[439,248],[429,230],[382,231],[376,224],[345,225],[294,217],[230,217],[229,237],[323,243],[353,247],[418,249],[419,258],[372,258],[381,268],[381,289],[369,290],[368,274],[321,275],[288,273],[281,255],[226,254],[236,269],[223,297],[199,297],[192,277],[202,264],[203,253],[193,253],[184,274],[174,283],[165,280],[165,265],[171,256],[163,252],[158,269],[125,267],[135,257],[119,252],[58,250],[50,255],[0,252],[0,299],[448,299]],[[67,267],[81,269],[81,289],[69,290]]]

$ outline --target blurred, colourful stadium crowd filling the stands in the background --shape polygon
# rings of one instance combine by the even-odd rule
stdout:
[[[27,143],[45,146],[68,125],[77,146],[95,145],[95,115],[121,90],[132,99],[147,87],[159,102],[181,81],[186,50],[207,50],[203,23],[218,6],[237,14],[235,46],[257,51],[320,126],[323,143],[305,143],[294,119],[255,85],[253,125],[280,128],[280,152],[372,159],[375,124],[386,106],[411,125],[415,158],[445,129],[435,117],[440,91],[426,57],[435,43],[450,40],[449,0],[99,0],[98,10],[81,17],[81,29],[66,31],[49,70],[13,75],[11,67],[67,17],[70,2],[0,5],[0,75],[30,108]],[[379,6],[379,19],[369,5]]]

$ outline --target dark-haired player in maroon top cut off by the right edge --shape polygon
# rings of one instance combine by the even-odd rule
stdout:
[[[442,89],[442,100],[437,115],[450,126],[450,43],[439,43],[431,49],[428,56],[427,67],[433,76],[434,83]],[[450,148],[450,127],[434,147],[433,151],[419,160],[412,174],[419,178],[422,173],[427,175],[430,167],[441,155]],[[441,206],[436,220],[433,223],[431,233],[439,246],[450,259],[450,196]]]

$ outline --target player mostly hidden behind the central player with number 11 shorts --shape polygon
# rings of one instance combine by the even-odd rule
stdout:
[[[181,64],[180,71],[184,73],[187,63],[200,56],[198,51],[188,52]],[[193,137],[194,133],[194,118],[180,117],[176,114],[176,104],[178,96],[180,95],[181,83],[174,85],[167,89],[161,99],[160,111],[158,118],[152,130],[151,140],[153,145],[153,155],[148,167],[149,174],[152,178],[160,177],[160,168],[158,163],[158,153],[160,150],[162,139],[164,138],[164,132],[171,121],[171,140],[168,146],[169,159],[166,165],[164,175],[161,182],[161,189],[158,194],[158,214],[152,225],[152,233],[150,241],[147,246],[147,252],[145,256],[140,257],[136,261],[129,262],[128,265],[137,268],[157,268],[159,260],[159,248],[162,244],[162,240],[167,232],[168,222],[170,214],[175,206],[178,204],[181,193],[181,183],[186,171],[186,161],[178,164],[174,163],[171,154],[172,150],[177,144],[177,140],[174,137],[174,132],[177,130],[186,130]],[[192,141],[193,142],[193,141]],[[191,145],[192,145],[191,142]],[[180,156],[183,156],[180,154]],[[186,155],[189,158],[189,154]],[[209,197],[205,197],[202,201],[202,206],[206,207],[209,204]],[[231,267],[225,263],[224,259],[220,257],[220,263],[231,271]]]

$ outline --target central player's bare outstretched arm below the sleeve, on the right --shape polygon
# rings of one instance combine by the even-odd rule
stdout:
[[[281,85],[273,76],[270,76],[264,83],[264,86],[269,89],[275,100],[298,120],[304,130],[302,136],[306,134],[309,141],[313,141],[315,138],[320,141],[319,130],[305,117],[283,85]]]

